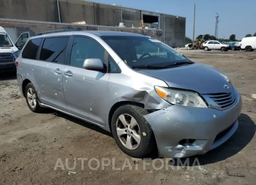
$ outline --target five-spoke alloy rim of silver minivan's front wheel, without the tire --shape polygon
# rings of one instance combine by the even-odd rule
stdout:
[[[122,145],[127,149],[134,150],[141,142],[140,127],[129,114],[121,114],[116,120],[116,132]]]

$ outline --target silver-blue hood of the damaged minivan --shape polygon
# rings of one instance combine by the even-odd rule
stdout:
[[[228,92],[224,88],[225,84],[230,87],[230,90],[233,89],[224,73],[197,62],[186,66],[141,72],[164,80],[169,87],[193,90],[200,94]]]

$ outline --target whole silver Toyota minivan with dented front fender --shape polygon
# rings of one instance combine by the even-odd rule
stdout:
[[[181,158],[227,141],[241,96],[218,69],[159,40],[117,31],[56,31],[28,39],[17,80],[29,109],[51,108],[112,132],[133,157]]]

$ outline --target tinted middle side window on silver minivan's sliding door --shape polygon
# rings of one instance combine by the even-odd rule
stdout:
[[[46,38],[40,53],[40,60],[64,64],[69,37]]]

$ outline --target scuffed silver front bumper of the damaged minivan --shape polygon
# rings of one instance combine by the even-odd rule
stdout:
[[[227,141],[238,127],[242,110],[242,98],[236,93],[237,102],[224,111],[172,105],[144,116],[154,132],[159,157],[204,154]],[[195,142],[180,144],[184,139]]]

